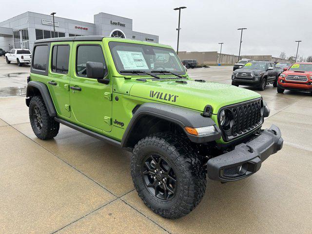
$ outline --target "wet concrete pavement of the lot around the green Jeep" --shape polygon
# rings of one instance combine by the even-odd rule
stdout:
[[[29,69],[0,57],[0,233],[312,233],[308,94],[255,90],[271,108],[264,128],[280,127],[283,149],[244,180],[208,180],[197,208],[169,220],[137,196],[130,153],[64,125],[52,140],[34,135],[22,97]],[[231,83],[232,67],[189,74]]]

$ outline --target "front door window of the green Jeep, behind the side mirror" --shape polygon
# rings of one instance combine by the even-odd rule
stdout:
[[[87,76],[87,62],[101,62],[106,67],[102,47],[99,45],[79,45],[77,48],[76,73],[79,77]]]

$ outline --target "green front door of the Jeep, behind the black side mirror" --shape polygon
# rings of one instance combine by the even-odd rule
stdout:
[[[70,104],[75,121],[90,130],[112,130],[112,82],[101,84],[97,79],[87,78],[86,63],[101,62],[106,66],[101,41],[74,42],[73,67],[70,81]],[[107,59],[106,59],[107,60]]]

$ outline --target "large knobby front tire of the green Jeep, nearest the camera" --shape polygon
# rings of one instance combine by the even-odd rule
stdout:
[[[151,158],[155,159],[151,161]],[[159,174],[159,170],[155,172],[159,158],[162,158],[160,168],[163,169],[163,174]],[[147,161],[149,162],[146,164]],[[170,176],[166,178],[168,167],[171,168]],[[201,201],[206,190],[206,174],[190,142],[171,133],[154,134],[136,144],[131,160],[131,175],[137,193],[145,205],[165,218],[175,219],[189,214]],[[176,181],[171,178],[175,178]],[[159,186],[163,179],[167,184]],[[153,191],[155,187],[148,187],[154,184],[158,185],[158,190]],[[161,195],[164,187],[174,191],[168,193],[168,199],[165,198],[165,192]],[[163,197],[157,197],[155,191],[160,191],[158,196]]]

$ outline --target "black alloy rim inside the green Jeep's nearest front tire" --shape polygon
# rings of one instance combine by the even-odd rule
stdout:
[[[142,161],[141,174],[144,185],[151,195],[162,201],[175,196],[176,174],[170,163],[162,156],[152,154]]]

